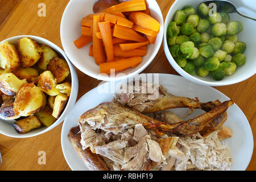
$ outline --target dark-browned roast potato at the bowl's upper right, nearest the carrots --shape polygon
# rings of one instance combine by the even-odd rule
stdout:
[[[65,80],[69,75],[69,67],[67,61],[55,57],[49,61],[47,69],[52,72],[52,75],[57,79],[57,83]]]

